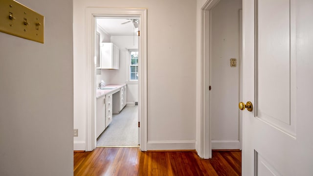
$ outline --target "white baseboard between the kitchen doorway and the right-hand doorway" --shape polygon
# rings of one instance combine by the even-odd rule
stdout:
[[[147,150],[195,150],[195,140],[148,141]]]

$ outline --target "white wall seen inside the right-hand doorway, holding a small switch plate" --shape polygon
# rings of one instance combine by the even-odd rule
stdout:
[[[239,9],[241,8],[242,0],[220,0],[211,10],[212,149],[241,148],[238,109],[240,102]],[[237,59],[236,67],[230,67],[230,58]]]

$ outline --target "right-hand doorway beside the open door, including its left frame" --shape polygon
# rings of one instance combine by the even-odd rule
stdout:
[[[201,157],[241,150],[242,0],[207,0],[201,11]]]

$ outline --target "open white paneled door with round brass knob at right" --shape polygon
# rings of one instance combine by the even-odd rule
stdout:
[[[313,175],[312,125],[303,125],[312,113],[296,113],[310,102],[296,103],[295,2],[243,1],[242,101],[253,104],[243,112],[243,176]]]

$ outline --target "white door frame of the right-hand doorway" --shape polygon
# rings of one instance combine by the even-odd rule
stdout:
[[[210,10],[219,3],[220,0],[206,0],[204,5],[201,8],[201,60],[200,65],[201,69],[200,75],[201,82],[201,98],[200,98],[200,109],[201,113],[200,116],[197,118],[200,118],[200,124],[201,128],[197,129],[197,133],[200,134],[200,142],[198,145],[200,145],[200,151],[198,151],[198,154],[201,158],[211,158],[212,157],[212,144],[211,144],[211,118],[210,118],[210,97],[209,97],[209,85],[210,85],[210,49],[211,49],[211,19],[210,19]],[[209,28],[207,31],[206,29]],[[240,36],[242,37],[242,36]],[[241,40],[241,39],[240,39]],[[240,44],[242,44],[240,42]],[[208,49],[207,49],[208,48]],[[242,47],[241,47],[242,50]],[[240,66],[240,99],[242,97],[242,51],[240,50],[240,58],[238,59],[239,66]],[[239,140],[242,142],[242,114],[240,112],[240,134],[239,134]]]

